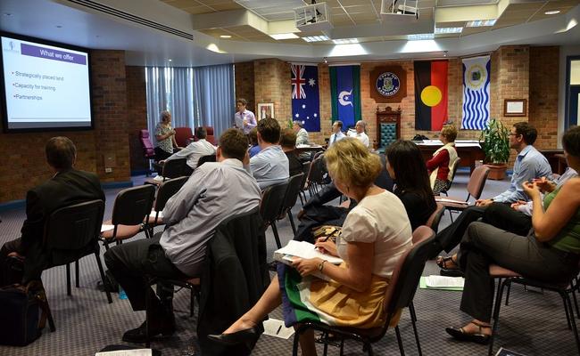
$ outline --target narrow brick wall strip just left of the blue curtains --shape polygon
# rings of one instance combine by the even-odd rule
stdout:
[[[139,132],[147,128],[145,67],[126,67],[128,150],[131,171],[142,171],[149,163],[143,157]]]

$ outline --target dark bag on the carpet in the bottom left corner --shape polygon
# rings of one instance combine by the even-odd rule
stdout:
[[[45,328],[47,312],[46,295],[40,282],[0,287],[0,344],[32,343]]]

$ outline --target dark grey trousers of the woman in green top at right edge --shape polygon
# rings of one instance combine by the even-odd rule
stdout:
[[[535,239],[533,231],[520,236],[486,223],[471,223],[461,239],[458,262],[465,273],[461,296],[462,312],[490,322],[493,308],[494,263],[529,279],[564,282],[576,276],[579,257]]]

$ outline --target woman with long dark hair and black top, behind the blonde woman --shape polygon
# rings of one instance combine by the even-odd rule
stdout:
[[[386,170],[395,182],[394,194],[407,210],[413,230],[425,225],[437,207],[429,183],[427,167],[415,143],[393,142],[386,150]]]

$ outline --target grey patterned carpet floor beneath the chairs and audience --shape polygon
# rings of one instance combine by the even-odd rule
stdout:
[[[141,184],[143,177],[137,177]],[[467,172],[459,172],[453,183],[452,196],[465,197],[468,182]],[[491,197],[505,190],[508,181],[490,182],[482,197]],[[105,219],[111,217],[114,197],[120,190],[107,190]],[[294,213],[300,210],[300,203]],[[19,235],[21,223],[25,219],[23,209],[6,211],[0,214],[0,244]],[[294,214],[295,216],[295,214]],[[445,214],[440,229],[450,223]],[[161,228],[160,228],[161,229]],[[278,224],[282,243],[292,239],[292,230],[287,220]],[[143,239],[144,236],[137,236]],[[271,232],[268,231],[269,255],[275,250]],[[427,262],[424,275],[438,274],[435,262]],[[80,287],[66,295],[66,274],[64,267],[45,271],[43,280],[46,294],[54,313],[56,331],[46,328],[36,342],[26,347],[0,346],[2,356],[20,355],[94,355],[107,344],[124,344],[120,340],[128,328],[137,327],[144,320],[144,312],[132,312],[127,300],[113,295],[112,304],[96,288],[100,280],[95,258],[88,256],[80,263]],[[461,326],[469,318],[459,311],[460,292],[433,291],[418,289],[415,307],[418,316],[418,333],[425,355],[485,355],[487,347],[477,344],[455,342],[447,336],[444,328]],[[195,347],[195,317],[189,317],[188,291],[176,293],[174,301],[178,330],[174,336],[153,342],[153,348],[163,355],[186,355],[187,350]],[[278,309],[270,317],[281,319]],[[501,308],[501,324],[496,338],[495,351],[504,347],[524,355],[574,355],[576,344],[574,336],[567,328],[566,316],[558,295],[526,292],[523,287],[512,287],[510,305]],[[1,321],[0,321],[1,322]],[[402,314],[399,324],[405,352],[418,354],[408,311]],[[138,346],[138,345],[137,345]],[[389,330],[383,340],[373,347],[376,354],[398,355],[394,332]],[[322,348],[319,348],[321,353]],[[272,336],[261,336],[253,355],[289,355],[292,353],[292,337],[283,340]],[[330,347],[329,354],[337,355],[338,349]],[[346,355],[363,354],[359,344],[347,342]]]

